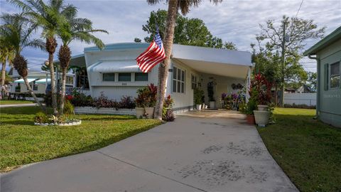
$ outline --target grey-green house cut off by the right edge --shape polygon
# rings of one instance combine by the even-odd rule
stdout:
[[[306,50],[304,55],[318,63],[317,117],[341,127],[341,26]]]

